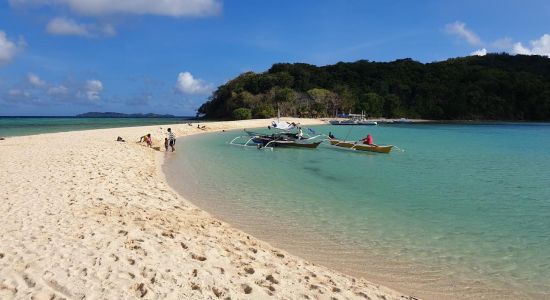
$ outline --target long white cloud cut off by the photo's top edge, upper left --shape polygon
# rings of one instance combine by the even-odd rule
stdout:
[[[82,15],[207,16],[221,11],[219,0],[10,0],[12,6],[67,6]]]

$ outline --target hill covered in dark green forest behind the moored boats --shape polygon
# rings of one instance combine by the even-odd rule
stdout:
[[[550,120],[550,59],[488,54],[423,64],[411,59],[317,67],[274,64],[218,87],[200,114],[216,119],[277,114],[436,120]]]

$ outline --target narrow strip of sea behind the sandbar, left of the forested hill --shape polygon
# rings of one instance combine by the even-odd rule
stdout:
[[[0,137],[182,123],[189,118],[0,117]]]

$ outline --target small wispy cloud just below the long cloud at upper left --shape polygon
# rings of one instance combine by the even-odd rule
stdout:
[[[46,26],[46,31],[54,35],[76,35],[76,36],[114,36],[116,30],[112,25],[97,25],[77,23],[73,19],[57,17]]]

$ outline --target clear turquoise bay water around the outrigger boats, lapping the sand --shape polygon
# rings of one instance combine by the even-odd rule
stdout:
[[[171,185],[275,246],[423,298],[550,297],[550,126],[317,126],[405,151],[179,139]]]

